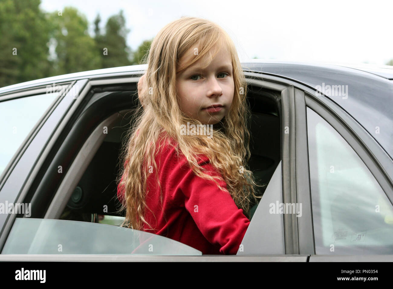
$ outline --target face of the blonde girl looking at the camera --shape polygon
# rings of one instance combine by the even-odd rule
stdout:
[[[198,45],[195,45],[198,47]],[[191,61],[194,47],[180,59],[179,69]],[[220,48],[208,67],[201,71],[200,60],[176,75],[176,90],[180,99],[180,109],[203,124],[216,124],[229,112],[235,84],[232,75],[230,53]],[[211,105],[221,105],[218,109],[207,109]]]

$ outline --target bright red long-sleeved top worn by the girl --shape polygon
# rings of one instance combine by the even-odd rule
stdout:
[[[179,241],[202,254],[235,255],[250,221],[229,192],[221,191],[213,181],[195,175],[185,156],[180,154],[177,157],[167,140],[155,161],[159,168],[163,206],[153,172],[147,179],[146,202],[157,222],[152,213],[145,210],[145,219],[155,230],[147,230],[149,227],[144,224],[143,231]],[[207,157],[200,157],[198,164],[206,168],[209,175],[219,174]],[[219,183],[227,188],[225,182]],[[118,199],[120,202],[124,200],[124,190],[119,185]]]

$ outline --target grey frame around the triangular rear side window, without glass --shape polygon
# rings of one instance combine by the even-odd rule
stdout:
[[[321,81],[322,82],[322,81]],[[299,218],[299,249],[303,254],[309,254],[309,261],[378,261],[385,260],[386,255],[316,255],[314,243],[314,229],[312,221],[310,169],[307,137],[307,107],[314,110],[321,118],[327,121],[354,149],[364,162],[365,166],[375,177],[387,198],[393,204],[393,161],[386,151],[373,139],[373,137],[354,120],[333,99],[321,94],[315,88],[299,85],[295,88],[296,108],[296,166],[298,199],[303,202],[303,214],[307,218]],[[303,170],[303,171],[302,171]],[[306,171],[304,171],[306,170]],[[305,206],[306,204],[306,206]],[[392,260],[393,256],[390,256]],[[387,259],[386,259],[387,260]]]

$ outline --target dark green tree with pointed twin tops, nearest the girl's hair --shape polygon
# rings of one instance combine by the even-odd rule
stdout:
[[[99,52],[101,68],[131,65],[131,49],[127,46],[126,37],[130,32],[125,27],[123,10],[119,14],[108,18],[105,25],[105,34],[99,29],[99,15],[94,20],[96,51]]]

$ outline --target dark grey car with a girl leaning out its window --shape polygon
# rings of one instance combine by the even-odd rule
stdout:
[[[119,226],[142,64],[0,88],[0,261],[392,261],[392,67],[241,64],[268,186],[237,255]]]

